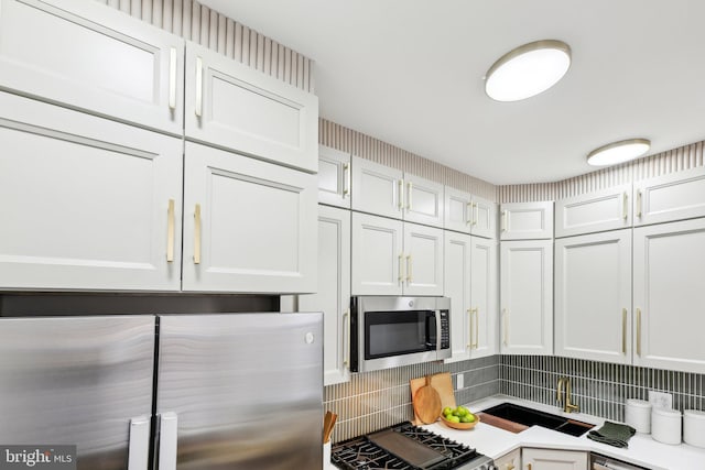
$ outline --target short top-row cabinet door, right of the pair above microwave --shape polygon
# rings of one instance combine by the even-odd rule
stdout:
[[[443,228],[443,185],[404,175],[404,220]]]

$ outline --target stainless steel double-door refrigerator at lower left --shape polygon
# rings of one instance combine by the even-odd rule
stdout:
[[[317,470],[322,402],[322,314],[0,319],[0,445],[79,470]]]

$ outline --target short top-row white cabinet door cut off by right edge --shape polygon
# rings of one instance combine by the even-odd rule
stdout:
[[[634,227],[705,217],[705,167],[634,183]]]

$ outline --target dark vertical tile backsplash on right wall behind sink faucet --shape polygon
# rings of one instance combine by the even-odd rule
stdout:
[[[547,356],[501,356],[499,393],[557,405],[558,378],[571,379],[581,412],[623,422],[628,398],[648,400],[649,390],[673,394],[675,409],[705,409],[705,375]]]

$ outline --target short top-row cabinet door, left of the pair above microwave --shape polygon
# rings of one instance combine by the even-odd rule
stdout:
[[[352,209],[401,219],[404,210],[403,173],[352,156]]]

